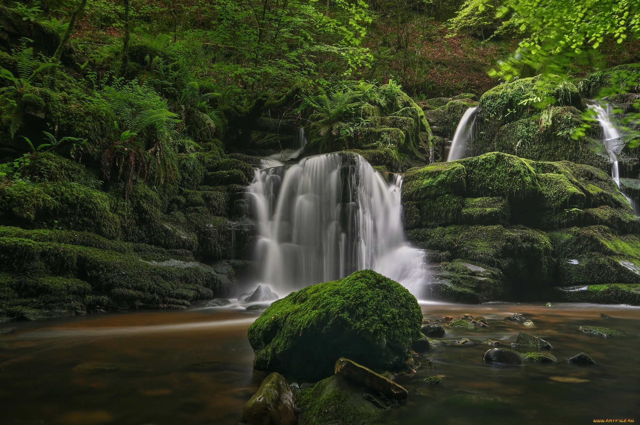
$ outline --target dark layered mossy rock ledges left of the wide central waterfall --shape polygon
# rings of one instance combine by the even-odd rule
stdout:
[[[216,150],[177,163],[175,186],[137,181],[127,197],[53,153],[33,156],[26,178],[0,181],[2,313],[186,308],[232,295],[250,265],[252,164]]]

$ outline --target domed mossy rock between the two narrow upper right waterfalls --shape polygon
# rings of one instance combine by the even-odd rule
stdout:
[[[533,77],[500,84],[480,98],[471,153],[499,151],[536,161],[572,161],[608,172],[609,156],[599,140],[598,124],[585,136],[572,137],[583,124],[585,108],[570,81]]]

